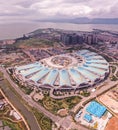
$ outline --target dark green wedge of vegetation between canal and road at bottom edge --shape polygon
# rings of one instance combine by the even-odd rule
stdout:
[[[52,130],[52,121],[48,117],[36,109],[33,109],[32,111],[41,127],[41,130]]]

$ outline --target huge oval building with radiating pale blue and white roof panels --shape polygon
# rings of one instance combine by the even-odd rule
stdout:
[[[108,74],[109,63],[89,50],[56,55],[14,67],[14,76],[21,84],[61,91],[94,86]]]

